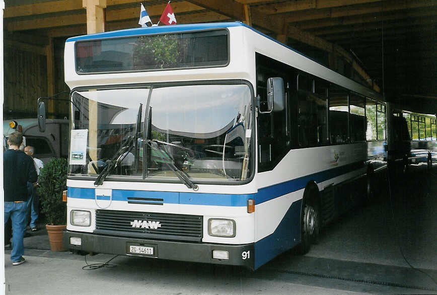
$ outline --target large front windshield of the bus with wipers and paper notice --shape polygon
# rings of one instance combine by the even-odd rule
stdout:
[[[108,177],[121,181],[178,179],[180,173],[235,181],[251,174],[253,118],[245,84],[81,90],[71,99],[70,176],[99,174],[115,160]],[[135,144],[126,147],[131,136]]]

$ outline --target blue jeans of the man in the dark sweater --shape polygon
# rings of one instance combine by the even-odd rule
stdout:
[[[24,253],[23,236],[26,230],[27,212],[27,202],[5,202],[5,225],[10,217],[12,221],[12,262],[20,261]]]

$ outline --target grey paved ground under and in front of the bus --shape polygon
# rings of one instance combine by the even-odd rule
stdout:
[[[12,266],[7,294],[437,293],[437,165],[391,175],[371,204],[328,226],[305,256],[289,251],[255,272],[240,267],[49,251],[45,230],[25,238],[27,262]]]

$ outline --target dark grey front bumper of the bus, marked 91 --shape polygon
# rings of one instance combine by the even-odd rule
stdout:
[[[80,238],[81,245],[73,245],[70,238]],[[93,233],[63,232],[65,249],[113,255],[141,256],[168,260],[202,262],[213,264],[240,265],[254,269],[254,244],[230,245],[190,243],[176,241],[145,240],[116,236],[101,236]],[[130,246],[153,248],[153,254],[134,254]],[[229,259],[215,259],[213,251],[228,251]],[[223,253],[223,252],[222,252]]]

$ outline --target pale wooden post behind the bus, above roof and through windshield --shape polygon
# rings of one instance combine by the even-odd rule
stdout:
[[[87,34],[104,32],[106,0],[83,0],[82,6],[87,10]],[[92,161],[97,161],[97,102],[90,100],[88,109],[89,154]]]

